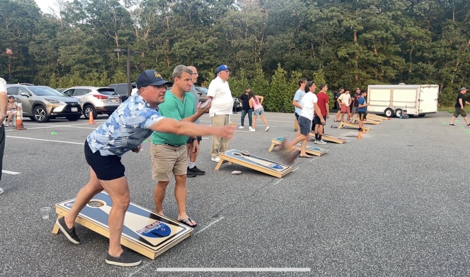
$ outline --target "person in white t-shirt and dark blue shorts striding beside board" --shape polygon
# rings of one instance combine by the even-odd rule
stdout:
[[[316,89],[316,85],[313,81],[307,82],[305,85],[305,95],[302,97],[302,101],[300,105],[302,106],[302,111],[298,116],[298,131],[297,137],[291,143],[284,143],[281,145],[281,149],[289,155],[292,153],[292,147],[302,141],[302,146],[300,148],[300,155],[301,158],[312,158],[311,155],[305,153],[305,148],[307,146],[307,139],[310,133],[310,127],[312,126],[313,121],[313,114],[314,112],[317,115],[321,115],[320,107],[318,107],[317,96],[313,93]],[[322,125],[325,125],[325,119],[323,116],[320,116],[320,121]]]

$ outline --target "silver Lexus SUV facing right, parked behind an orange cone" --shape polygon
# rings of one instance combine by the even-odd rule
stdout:
[[[58,117],[76,121],[82,115],[82,103],[77,98],[65,97],[45,85],[7,85],[7,94],[22,104],[23,116],[37,122],[43,123]]]

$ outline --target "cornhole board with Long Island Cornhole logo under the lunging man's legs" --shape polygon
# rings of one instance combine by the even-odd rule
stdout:
[[[74,202],[75,199],[71,199],[55,204],[57,218],[67,215]],[[108,193],[100,192],[81,210],[76,222],[109,238],[108,217],[111,207],[112,202]],[[130,203],[125,212],[121,245],[150,259],[155,259],[158,255],[191,236],[193,230],[185,224]],[[59,231],[59,227],[54,224],[52,233],[58,234]]]

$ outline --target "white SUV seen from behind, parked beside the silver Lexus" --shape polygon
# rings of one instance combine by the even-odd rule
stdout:
[[[86,119],[90,113],[93,113],[93,118],[102,114],[111,115],[122,103],[122,97],[109,87],[73,86],[62,93],[82,101]]]

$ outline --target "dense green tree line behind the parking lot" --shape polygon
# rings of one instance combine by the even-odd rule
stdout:
[[[371,84],[438,84],[451,106],[470,78],[468,0],[0,0],[0,76],[52,87],[126,82],[143,69],[171,77],[198,68],[201,85],[231,67],[266,109],[292,112],[299,77],[330,90]]]

